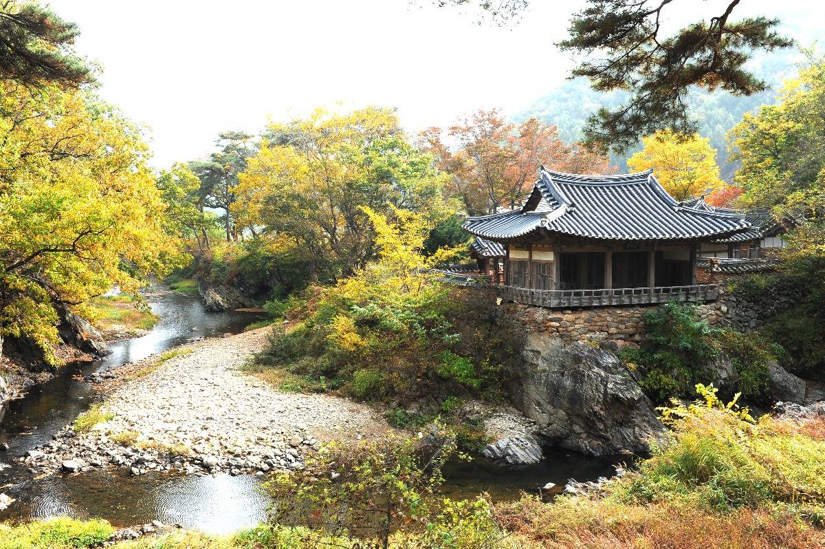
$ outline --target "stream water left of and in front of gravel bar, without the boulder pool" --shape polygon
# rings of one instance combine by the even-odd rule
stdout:
[[[68,514],[102,517],[123,526],[167,516],[171,522],[205,530],[213,528],[211,521],[214,528],[228,532],[262,518],[265,499],[254,493],[255,477],[132,477],[101,472],[35,480],[12,461],[49,442],[52,434],[87,409],[94,392],[82,381],[83,376],[162,353],[191,338],[237,334],[261,318],[234,311],[207,313],[198,296],[191,294],[167,292],[148,296],[148,301],[160,316],[148,334],[111,343],[112,353],[104,360],[68,364],[50,381],[32,387],[26,398],[8,406],[0,419],[0,443],[9,445],[7,452],[0,452],[0,491],[17,501],[0,512],[0,520]],[[237,509],[217,513],[210,502]]]

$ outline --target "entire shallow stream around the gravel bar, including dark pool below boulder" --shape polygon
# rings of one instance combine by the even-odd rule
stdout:
[[[261,476],[185,476],[104,470],[78,475],[54,474],[36,478],[12,461],[40,444],[92,404],[94,390],[75,377],[106,372],[151,354],[186,343],[191,338],[237,334],[261,319],[255,313],[207,313],[197,294],[161,292],[148,297],[160,317],[140,338],[110,343],[111,355],[97,362],[73,362],[50,381],[31,387],[21,400],[12,401],[0,421],[0,493],[16,499],[0,511],[2,520],[70,515],[106,518],[116,527],[148,523],[179,523],[210,533],[235,532],[266,518],[269,499],[258,490]],[[196,328],[196,331],[193,331]],[[575,452],[545,450],[535,466],[506,469],[480,459],[454,463],[446,469],[445,495],[466,498],[488,492],[493,499],[515,499],[521,490],[535,493],[547,482],[563,485],[568,478],[594,480],[610,476],[617,459],[587,458]]]

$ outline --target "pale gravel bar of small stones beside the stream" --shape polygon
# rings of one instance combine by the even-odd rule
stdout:
[[[187,345],[153,372],[110,386],[102,411],[115,414],[89,433],[65,429],[26,457],[35,469],[88,470],[106,462],[148,470],[270,471],[302,466],[328,440],[383,437],[373,410],[331,395],[282,393],[238,372],[268,329]],[[157,360],[157,359],[155,359]],[[129,377],[151,361],[116,371]],[[31,452],[30,452],[31,453]]]

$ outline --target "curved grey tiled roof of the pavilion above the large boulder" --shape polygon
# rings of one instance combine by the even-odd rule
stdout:
[[[738,212],[677,202],[650,170],[585,176],[544,168],[521,210],[470,217],[464,223],[470,233],[489,239],[512,239],[534,230],[591,239],[700,239],[748,228]]]

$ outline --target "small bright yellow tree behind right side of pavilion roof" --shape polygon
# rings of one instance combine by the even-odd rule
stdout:
[[[686,200],[722,187],[716,150],[699,134],[685,138],[669,130],[645,137],[644,147],[627,163],[635,172],[653,168],[658,182],[676,200]]]

